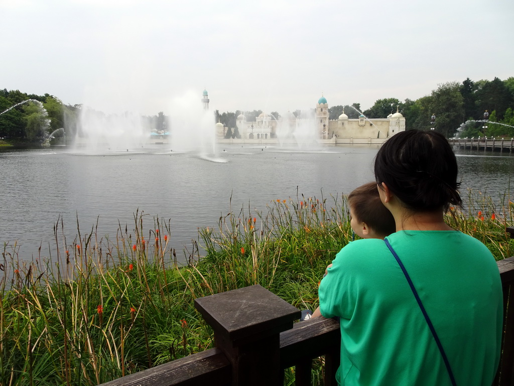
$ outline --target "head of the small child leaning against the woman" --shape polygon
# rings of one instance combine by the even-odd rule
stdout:
[[[381,238],[396,232],[394,217],[380,201],[376,182],[359,186],[348,195],[350,224],[362,238]]]

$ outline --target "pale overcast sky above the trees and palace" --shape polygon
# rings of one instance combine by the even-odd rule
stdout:
[[[0,89],[109,113],[204,89],[220,112],[365,110],[514,76],[512,20],[512,0],[0,0]]]

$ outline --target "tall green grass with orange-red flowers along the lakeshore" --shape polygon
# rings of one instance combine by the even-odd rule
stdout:
[[[196,297],[260,284],[300,309],[317,305],[319,280],[352,239],[344,196],[279,199],[266,212],[229,212],[199,231],[185,265],[169,245],[170,222],[154,220],[75,240],[54,226],[57,255],[23,261],[5,244],[0,269],[0,384],[95,385],[212,346]],[[514,204],[468,195],[447,221],[484,242],[495,258],[514,255]],[[203,247],[199,247],[203,245]],[[321,362],[315,372],[319,379]],[[286,372],[287,383],[292,371]],[[292,383],[291,383],[292,384]]]

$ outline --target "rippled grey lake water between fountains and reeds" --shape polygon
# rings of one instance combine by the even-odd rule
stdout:
[[[225,150],[225,151],[223,151]],[[140,152],[84,154],[69,148],[0,150],[0,243],[17,241],[21,258],[48,255],[53,226],[64,221],[68,244],[96,226],[116,236],[118,222],[129,232],[143,210],[145,230],[155,217],[171,220],[170,244],[177,251],[197,239],[198,227],[245,209],[266,210],[273,200],[328,198],[372,181],[378,147],[338,146],[316,151],[279,147],[225,146],[212,162],[162,145]],[[456,150],[467,188],[500,200],[512,190],[514,156]],[[511,192],[510,192],[511,193]],[[514,196],[514,195],[511,195]],[[301,197],[300,197],[301,200]],[[231,204],[230,204],[231,202]],[[247,210],[245,210],[247,212]]]

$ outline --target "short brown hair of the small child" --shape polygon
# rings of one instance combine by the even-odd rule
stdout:
[[[380,201],[375,182],[354,189],[348,195],[348,205],[357,221],[368,224],[377,235],[386,237],[396,232],[394,217]]]

